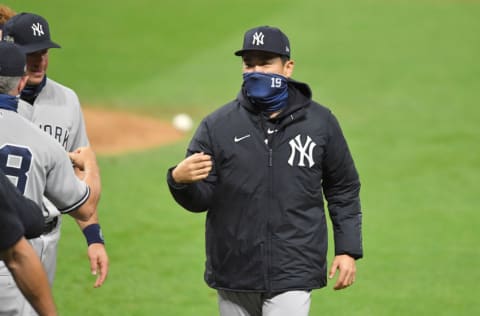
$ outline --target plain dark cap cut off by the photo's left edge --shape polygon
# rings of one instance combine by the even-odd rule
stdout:
[[[25,62],[25,54],[17,45],[0,42],[0,76],[21,77],[25,75]]]

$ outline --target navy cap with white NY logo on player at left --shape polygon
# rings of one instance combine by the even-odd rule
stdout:
[[[3,40],[17,44],[25,54],[47,48],[60,48],[50,40],[47,20],[33,13],[19,13],[3,26]]]

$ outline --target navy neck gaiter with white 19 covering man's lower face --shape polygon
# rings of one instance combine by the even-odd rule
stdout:
[[[261,112],[276,112],[287,105],[288,84],[284,76],[246,72],[243,83],[248,98]]]

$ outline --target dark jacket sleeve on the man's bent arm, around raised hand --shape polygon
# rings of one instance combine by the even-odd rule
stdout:
[[[176,183],[172,177],[172,170],[175,167],[171,167],[167,171],[167,184],[170,193],[178,204],[191,212],[203,212],[208,210],[213,198],[215,183],[217,180],[214,154],[208,126],[205,120],[195,132],[185,157],[198,152],[210,155],[213,160],[212,171],[210,171],[210,174],[206,179],[190,184]]]

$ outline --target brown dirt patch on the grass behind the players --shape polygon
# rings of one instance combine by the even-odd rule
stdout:
[[[185,135],[170,122],[130,112],[84,107],[90,143],[99,155],[118,155],[176,142]]]

